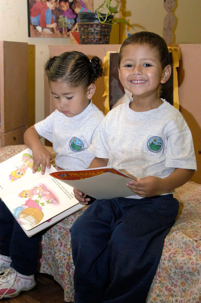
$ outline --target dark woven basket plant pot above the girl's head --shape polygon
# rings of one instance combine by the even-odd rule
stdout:
[[[105,20],[106,15],[101,14],[101,20]],[[112,15],[107,17],[105,23],[101,23],[97,13],[79,13],[79,40],[80,44],[109,44]]]

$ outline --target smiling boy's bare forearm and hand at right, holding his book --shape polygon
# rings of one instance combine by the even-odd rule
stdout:
[[[154,176],[138,178],[137,181],[129,182],[127,186],[138,196],[153,197],[172,192],[176,187],[190,180],[193,174],[194,170],[177,168],[166,178],[162,179]]]

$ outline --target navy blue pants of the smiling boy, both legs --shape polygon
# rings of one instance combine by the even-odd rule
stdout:
[[[90,205],[71,228],[75,303],[146,302],[178,209],[173,195]]]

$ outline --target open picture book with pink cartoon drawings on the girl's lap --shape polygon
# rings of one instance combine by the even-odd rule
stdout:
[[[30,149],[0,163],[0,197],[28,237],[81,209],[73,187],[53,178],[51,166],[33,174]]]

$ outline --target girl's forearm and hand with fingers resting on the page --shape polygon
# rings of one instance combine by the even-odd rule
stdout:
[[[45,173],[45,168],[50,168],[51,154],[45,149],[40,141],[40,135],[36,131],[34,125],[24,132],[24,144],[33,152],[34,164],[33,173],[36,172],[41,164],[41,173]]]

